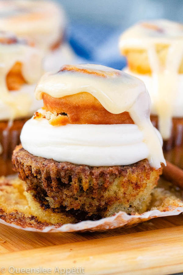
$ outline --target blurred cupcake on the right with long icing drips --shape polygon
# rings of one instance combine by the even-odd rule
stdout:
[[[151,120],[165,147],[183,144],[183,25],[168,20],[137,23],[120,37],[127,72],[142,79],[152,101]]]

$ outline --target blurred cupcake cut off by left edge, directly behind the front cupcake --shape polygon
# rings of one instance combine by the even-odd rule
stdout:
[[[0,32],[0,153],[4,159],[11,158],[23,124],[41,106],[34,97],[41,63],[42,54],[26,40]]]

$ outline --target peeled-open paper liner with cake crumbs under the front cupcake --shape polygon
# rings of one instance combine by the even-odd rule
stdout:
[[[178,215],[183,212],[183,194],[178,187],[160,179],[152,190],[149,211],[135,215],[118,212],[111,217],[95,221],[77,221],[74,215],[52,213],[42,209],[31,195],[24,191],[24,182],[18,178],[0,179],[0,223],[18,229],[38,232],[77,232],[103,231],[108,229],[131,227],[152,218]],[[55,215],[58,222],[50,222],[50,215]]]

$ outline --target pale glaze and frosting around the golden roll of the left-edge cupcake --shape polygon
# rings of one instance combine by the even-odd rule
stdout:
[[[40,106],[34,95],[35,83],[42,74],[42,53],[7,33],[0,33],[1,38],[14,39],[12,44],[0,42],[0,119],[15,119],[32,115]],[[18,91],[9,91],[6,76],[16,62],[22,64],[22,75],[27,84]]]

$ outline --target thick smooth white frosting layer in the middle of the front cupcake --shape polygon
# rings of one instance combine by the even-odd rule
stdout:
[[[135,124],[54,127],[46,119],[31,118],[24,124],[20,140],[35,156],[89,166],[128,165],[149,156],[143,133]]]

